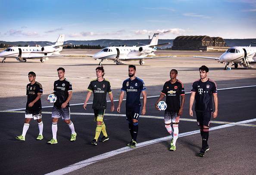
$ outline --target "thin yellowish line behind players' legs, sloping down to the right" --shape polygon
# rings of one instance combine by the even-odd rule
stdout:
[[[3,112],[3,113],[25,113],[25,111],[0,111],[0,113],[1,112]],[[43,111],[42,114],[52,114],[52,112]],[[71,115],[94,116],[94,113],[71,112],[70,114]],[[126,117],[125,114],[104,114],[104,116]],[[162,120],[164,119],[164,117],[161,117],[161,116],[148,116],[148,115],[140,116],[140,118],[162,119]],[[187,121],[187,122],[197,122],[196,119],[188,119],[188,118],[180,118],[180,120]],[[256,127],[256,125],[254,125],[254,124],[243,124],[243,123],[237,123],[237,122],[225,122],[225,121],[216,121],[216,120],[212,120],[211,123]]]

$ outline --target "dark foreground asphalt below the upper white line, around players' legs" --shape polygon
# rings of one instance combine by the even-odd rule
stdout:
[[[183,120],[179,125],[180,134],[198,130],[196,122],[185,121],[191,119],[188,115],[190,94],[186,94],[185,97],[184,114],[181,117]],[[219,114],[212,121],[239,122],[256,118],[256,87],[219,90],[218,97]],[[163,116],[163,112],[157,111],[153,106],[156,99],[156,97],[147,99],[147,116]],[[115,102],[115,107],[117,107],[117,102]],[[106,114],[110,114],[109,108],[110,106]],[[50,113],[51,107],[44,108],[43,111]],[[84,111],[82,105],[74,105],[71,106],[71,113],[93,113],[93,111],[91,104],[88,104],[87,111]],[[1,174],[46,174],[125,147],[125,144],[131,140],[128,123],[125,117],[116,116],[115,114],[118,114],[116,111],[112,114],[112,116],[104,117],[109,141],[98,142],[98,146],[93,146],[90,141],[94,138],[96,124],[92,115],[71,115],[78,133],[75,142],[69,141],[70,129],[59,120],[58,144],[49,145],[46,142],[52,138],[51,114],[43,114],[43,140],[35,140],[38,127],[35,121],[31,121],[26,141],[22,142],[14,137],[22,132],[24,113],[21,111],[0,112],[2,119],[0,123],[2,131],[0,132]],[[125,101],[121,107],[121,114],[125,114]],[[100,160],[70,174],[168,174],[169,172],[175,172],[175,174],[241,174],[241,172],[253,174],[256,163],[254,148],[256,122],[251,124],[211,131],[210,150],[204,158],[196,156],[201,145],[200,134],[196,134],[178,138],[175,152],[168,150],[169,141],[162,141]],[[222,124],[212,123],[211,127],[220,125]],[[140,117],[138,143],[168,135],[162,119]],[[202,166],[207,167],[207,172],[204,172],[205,169]]]

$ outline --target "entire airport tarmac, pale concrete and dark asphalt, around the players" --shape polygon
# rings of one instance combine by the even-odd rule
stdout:
[[[96,52],[94,50],[64,50],[63,55],[85,55]],[[162,58],[159,60],[146,60],[143,66],[137,61],[116,65],[112,61],[103,61],[106,78],[110,80],[114,99],[119,97],[122,81],[127,78],[128,64],[137,66],[137,77],[144,80],[147,86],[147,95],[159,95],[162,85],[169,79],[169,71],[172,68],[178,70],[178,79],[184,83],[185,107],[181,116],[177,141],[177,150],[170,152],[169,133],[162,120],[163,112],[154,108],[157,97],[147,99],[146,116],[140,116],[138,146],[136,149],[125,147],[131,140],[128,131],[128,123],[125,120],[125,101],[123,101],[121,114],[110,113],[106,110],[104,122],[109,135],[109,141],[98,142],[93,146],[90,141],[94,138],[96,124],[93,121],[93,110],[88,104],[87,111],[79,103],[84,102],[86,89],[91,79],[95,77],[95,68],[98,61],[87,57],[63,57],[49,59],[44,63],[39,60],[28,60],[26,63],[16,62],[15,59],[6,59],[6,63],[0,64],[0,174],[46,174],[55,172],[63,174],[62,169],[72,169],[69,174],[253,174],[256,172],[256,87],[244,87],[239,89],[225,89],[231,87],[256,85],[255,69],[231,69],[224,71],[224,65],[217,61],[191,58],[184,55],[208,54],[219,56],[221,52],[172,52],[158,51],[161,54],[182,56],[177,58]],[[106,64],[104,64],[106,63]],[[216,81],[219,97],[219,114],[212,119],[211,128],[222,127],[225,122],[233,122],[230,127],[219,128],[210,131],[210,150],[206,156],[197,157],[200,150],[201,138],[198,132],[196,117],[189,117],[188,105],[190,88],[194,80],[199,78],[198,68],[205,64],[209,67],[209,77]],[[44,99],[52,92],[53,81],[57,80],[56,68],[66,69],[66,78],[73,85],[73,97],[71,104],[71,120],[78,133],[77,140],[70,142],[70,129],[59,120],[57,139],[58,144],[46,144],[52,138],[51,132],[51,107]],[[16,111],[3,111],[25,108],[25,86],[28,84],[27,73],[35,71],[37,81],[43,85],[44,95],[41,98],[43,104],[44,139],[36,141],[38,134],[37,122],[32,121],[26,135],[26,141],[17,141],[15,135],[20,135],[24,123],[24,109]],[[222,89],[222,90],[221,90]],[[92,99],[92,98],[91,98]],[[76,105],[78,104],[78,105]],[[108,103],[109,104],[109,103]],[[115,102],[117,107],[117,101]],[[194,119],[194,120],[191,120]],[[250,120],[249,123],[238,124]],[[183,135],[192,133],[192,135]],[[193,134],[194,133],[194,134]],[[101,135],[102,136],[102,135]],[[100,137],[101,137],[100,136]],[[152,142],[154,139],[165,138],[160,142]],[[152,144],[154,143],[154,144]],[[141,144],[141,145],[140,145]],[[144,145],[144,146],[143,146]],[[125,148],[124,148],[125,147]],[[107,154],[124,148],[126,152],[110,155],[106,159],[100,159],[92,164],[85,164],[89,158]],[[112,153],[112,152],[111,152]],[[80,162],[78,166],[70,166]],[[86,166],[87,165],[87,166]]]

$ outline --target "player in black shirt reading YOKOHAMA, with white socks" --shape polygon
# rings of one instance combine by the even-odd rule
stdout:
[[[72,98],[72,84],[69,80],[67,80],[65,76],[65,69],[58,68],[58,77],[59,80],[56,80],[53,84],[53,93],[57,96],[57,101],[53,105],[52,111],[52,132],[53,138],[48,141],[48,144],[57,144],[57,123],[58,119],[62,117],[64,122],[69,126],[71,130],[71,138],[70,141],[75,141],[76,132],[74,128],[74,124],[70,120],[70,109],[69,109],[69,101]]]

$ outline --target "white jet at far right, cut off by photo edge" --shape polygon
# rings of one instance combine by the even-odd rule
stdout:
[[[253,68],[250,64],[256,63],[256,47],[251,46],[234,46],[230,47],[226,52],[224,52],[219,58],[217,57],[205,57],[205,56],[193,56],[197,58],[207,58],[214,59],[220,63],[225,64],[225,70],[231,70],[231,67],[228,67],[230,63],[231,66],[234,65],[234,68],[238,67],[240,64],[243,68]]]

